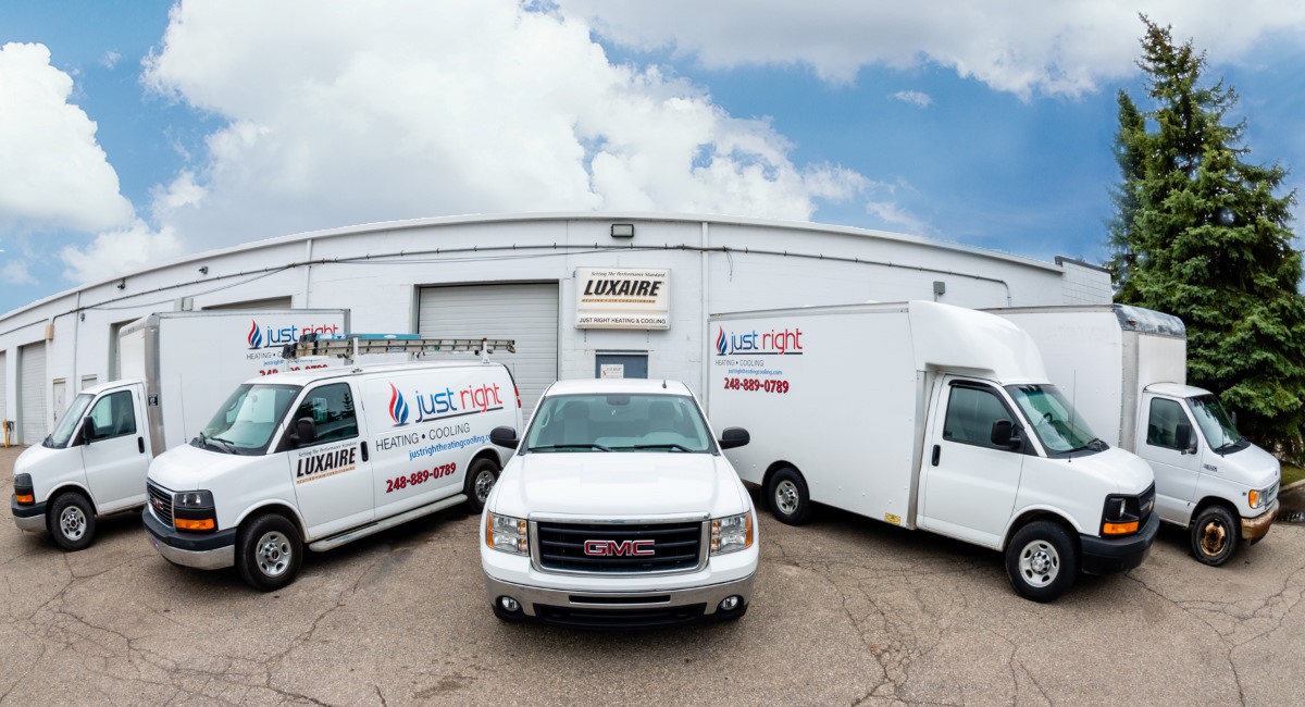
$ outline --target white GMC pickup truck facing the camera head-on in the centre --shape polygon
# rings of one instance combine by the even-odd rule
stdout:
[[[502,620],[649,627],[733,620],[758,562],[752,500],[684,384],[559,381],[539,400],[480,519]],[[518,446],[519,445],[519,446]]]

